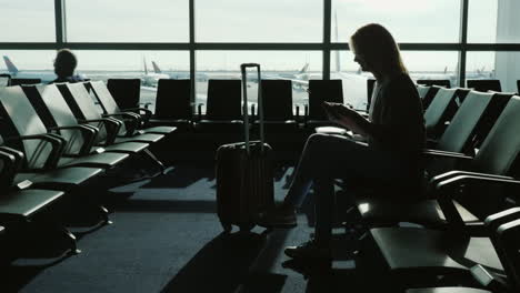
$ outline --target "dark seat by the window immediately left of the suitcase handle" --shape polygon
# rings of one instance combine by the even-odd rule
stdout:
[[[208,80],[206,115],[199,104],[199,121],[196,131],[200,133],[243,133],[240,80]]]

